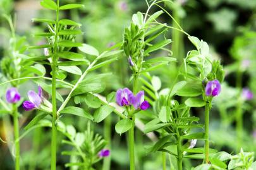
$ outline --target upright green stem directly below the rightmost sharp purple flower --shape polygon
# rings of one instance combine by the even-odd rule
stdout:
[[[205,105],[205,162],[209,163],[209,111],[210,111],[211,101],[207,101]]]

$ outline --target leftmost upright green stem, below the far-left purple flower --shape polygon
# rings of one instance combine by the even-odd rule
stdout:
[[[20,170],[20,133],[19,133],[19,118],[16,105],[13,104],[13,123],[15,131],[15,169]]]

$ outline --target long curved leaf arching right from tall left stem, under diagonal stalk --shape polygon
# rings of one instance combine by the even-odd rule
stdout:
[[[88,118],[89,120],[94,119],[94,117],[92,115],[90,115],[89,113],[87,113],[85,110],[83,110],[82,108],[75,107],[75,106],[66,107],[63,110],[61,110],[61,113],[82,116],[84,118]]]

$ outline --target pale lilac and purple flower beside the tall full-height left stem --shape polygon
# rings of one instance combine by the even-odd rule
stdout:
[[[29,101],[23,102],[24,110],[29,111],[35,108],[38,109],[42,102],[42,88],[38,86],[38,93],[35,93],[35,91],[28,91],[28,99]]]

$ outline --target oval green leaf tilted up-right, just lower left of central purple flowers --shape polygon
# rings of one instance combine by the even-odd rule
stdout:
[[[104,120],[112,111],[114,111],[113,106],[104,105],[97,109],[94,113],[94,122],[99,123]]]

